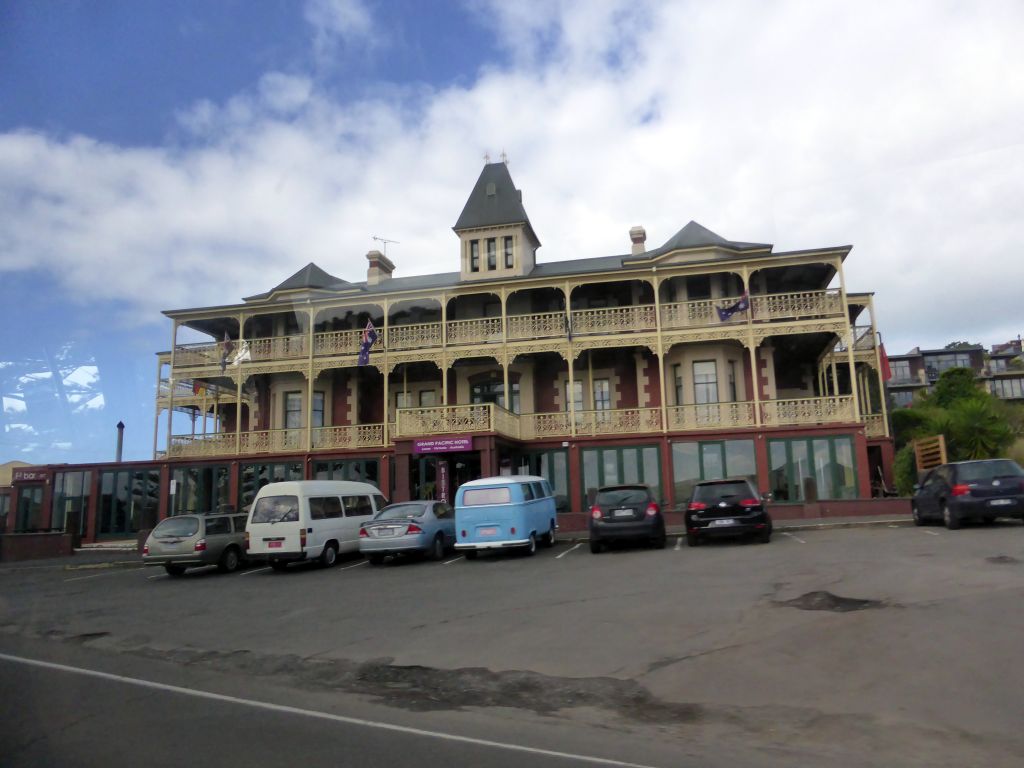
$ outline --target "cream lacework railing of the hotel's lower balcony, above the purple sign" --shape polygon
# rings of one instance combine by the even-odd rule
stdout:
[[[307,450],[385,447],[395,439],[490,432],[537,440],[660,432],[719,431],[757,427],[812,426],[857,422],[853,397],[801,397],[761,402],[709,402],[662,408],[608,409],[513,414],[495,403],[398,409],[387,425],[357,424],[300,429],[264,429],[174,435],[169,458],[298,453]],[[885,436],[881,414],[862,416],[868,437]]]

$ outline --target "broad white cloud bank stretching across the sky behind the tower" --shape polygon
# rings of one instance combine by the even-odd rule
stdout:
[[[0,134],[0,272],[41,266],[158,322],[308,261],[364,280],[372,234],[400,241],[398,274],[452,271],[451,225],[505,150],[542,261],[692,218],[776,249],[853,244],[849,285],[876,292],[891,352],[1020,332],[1024,5],[473,7],[513,65],[465,87],[338,103],[315,74],[267,73],[183,105],[185,146]],[[357,3],[306,18],[322,52],[373,35]]]

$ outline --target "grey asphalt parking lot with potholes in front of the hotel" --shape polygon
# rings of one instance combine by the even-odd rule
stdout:
[[[0,567],[0,652],[434,734],[401,739],[443,734],[445,764],[521,765],[523,746],[542,751],[531,764],[552,765],[1024,760],[1016,522],[787,531],[767,546],[695,549],[672,537],[665,550],[601,555],[563,540],[535,557],[181,579],[134,561],[75,565]],[[39,682],[23,698],[28,713],[10,702],[0,713],[2,740],[17,745],[4,764],[38,764],[61,738],[61,749],[101,753],[102,742],[74,740],[74,723],[52,727],[79,674],[0,658],[5,688]],[[96,682],[92,706],[116,712],[124,692],[99,691],[123,685],[138,687]],[[156,701],[193,694],[146,695],[187,727],[180,706]],[[217,708],[210,717],[229,722],[220,709],[252,706],[189,711]],[[33,725],[36,710],[45,728]],[[260,713],[286,716],[306,717]],[[406,764],[367,746],[380,734],[359,733],[377,726],[334,721],[331,733],[342,725],[354,729],[346,743],[365,748],[360,765]],[[408,750],[418,765],[423,749]]]

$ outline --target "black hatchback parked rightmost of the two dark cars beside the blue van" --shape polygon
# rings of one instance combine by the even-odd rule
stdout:
[[[754,483],[740,477],[694,485],[686,507],[686,543],[696,547],[702,539],[741,536],[771,541],[771,517]]]

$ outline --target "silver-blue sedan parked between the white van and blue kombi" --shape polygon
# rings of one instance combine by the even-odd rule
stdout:
[[[455,546],[455,510],[437,501],[385,507],[359,528],[359,552],[374,565],[387,555],[428,555],[435,560]]]

